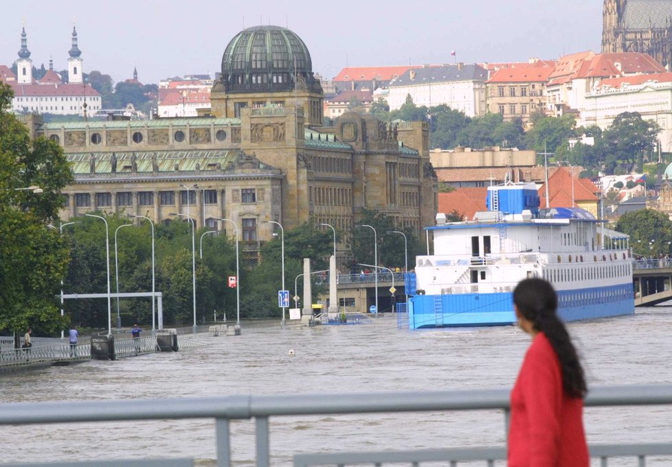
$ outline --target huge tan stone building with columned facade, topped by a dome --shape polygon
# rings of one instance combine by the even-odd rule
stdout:
[[[98,210],[163,222],[179,213],[193,217],[197,227],[230,229],[219,219],[231,219],[251,261],[260,242],[271,239],[273,224],[265,221],[285,229],[311,220],[330,224],[346,240],[365,208],[418,235],[432,225],[437,180],[427,124],[389,125],[347,112],[335,126],[321,126],[322,93],[319,82],[311,82],[309,56],[299,60],[282,49],[278,53],[287,59],[275,60],[277,34],[291,37],[289,43],[300,40],[272,26],[245,29],[232,40],[208,115],[71,123],[29,118],[33,134],[63,146],[72,165],[75,182],[64,190],[63,220]],[[260,50],[266,55],[243,47],[252,55],[240,58],[235,50],[243,38],[256,45],[264,40]],[[293,69],[299,63],[303,68]],[[256,77],[253,83],[251,75],[260,74],[253,65],[262,64],[265,82]],[[280,73],[283,82],[274,83]],[[284,83],[293,77],[296,86]],[[338,251],[342,264],[349,256],[346,244]]]

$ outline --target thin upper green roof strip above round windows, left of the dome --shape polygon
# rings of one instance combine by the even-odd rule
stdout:
[[[192,119],[153,119],[153,120],[115,120],[115,121],[68,121],[43,123],[40,129],[43,131],[64,130],[114,130],[124,128],[170,128],[172,127],[205,127],[210,125],[240,125],[240,119],[220,119],[220,118],[192,118]]]

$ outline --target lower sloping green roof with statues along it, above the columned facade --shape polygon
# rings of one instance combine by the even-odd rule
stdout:
[[[227,169],[240,155],[238,149],[203,149],[192,151],[144,151],[144,152],[106,152],[106,153],[76,153],[67,154],[67,160],[75,175],[91,173],[91,154],[95,156],[96,173],[112,173],[112,155],[117,158],[116,173],[133,173],[133,154],[137,173],[153,173],[153,158],[159,172],[174,172],[175,165],[179,171],[208,171],[215,169]],[[263,165],[262,169],[272,168]]]

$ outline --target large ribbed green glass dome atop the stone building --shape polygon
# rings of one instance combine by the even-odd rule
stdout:
[[[248,27],[224,50],[221,82],[228,93],[289,91],[295,76],[299,86],[316,83],[308,47],[284,27]]]

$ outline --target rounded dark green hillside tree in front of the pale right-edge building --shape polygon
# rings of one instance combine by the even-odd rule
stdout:
[[[638,112],[623,112],[614,118],[603,132],[605,171],[614,173],[620,161],[626,161],[627,171],[644,167],[644,154],[656,145],[660,126],[655,121],[642,119]]]

